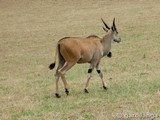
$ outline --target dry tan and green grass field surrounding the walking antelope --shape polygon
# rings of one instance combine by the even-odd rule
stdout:
[[[159,0],[0,0],[0,120],[160,115],[159,15]],[[104,36],[101,17],[109,25],[116,18],[122,39],[112,44],[113,57],[101,61],[109,89],[94,71],[85,94],[89,64],[77,64],[66,74],[70,95],[60,81],[62,97],[55,98],[55,70],[48,65],[57,41]]]

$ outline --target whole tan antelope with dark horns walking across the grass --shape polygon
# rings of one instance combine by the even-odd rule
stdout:
[[[61,77],[65,93],[68,95],[68,83],[65,78],[65,73],[71,69],[76,63],[89,63],[90,67],[88,69],[87,82],[85,84],[84,92],[88,93],[89,80],[94,68],[96,68],[99,74],[103,88],[107,90],[106,83],[103,80],[103,74],[100,70],[100,60],[104,56],[111,57],[111,43],[121,42],[121,38],[118,35],[117,28],[115,26],[115,18],[113,19],[113,25],[108,27],[108,25],[101,18],[105,27],[103,27],[106,34],[103,38],[96,35],[90,35],[86,38],[80,37],[65,37],[58,41],[55,51],[55,60],[49,65],[50,70],[55,67],[56,59],[58,56],[58,67],[55,73],[56,79],[56,93],[55,96],[60,98],[59,95],[59,78]]]

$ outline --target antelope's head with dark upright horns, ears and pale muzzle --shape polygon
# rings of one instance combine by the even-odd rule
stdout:
[[[110,27],[108,27],[108,25],[104,22],[104,20],[102,18],[101,18],[101,20],[102,20],[103,24],[105,25],[105,27],[103,27],[103,30],[106,32],[111,30],[113,41],[117,42],[117,43],[121,42],[121,38],[118,35],[118,31],[117,31],[117,28],[115,25],[115,18],[113,19],[113,25],[111,26],[111,29],[110,29]]]

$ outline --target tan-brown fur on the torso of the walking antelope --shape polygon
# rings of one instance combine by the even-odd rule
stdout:
[[[70,37],[58,42],[60,53],[67,62],[95,64],[103,56],[103,48],[98,37]]]

